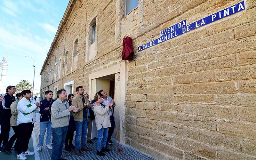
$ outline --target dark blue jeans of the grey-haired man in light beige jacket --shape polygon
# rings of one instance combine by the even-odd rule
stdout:
[[[68,126],[52,128],[54,143],[52,149],[52,160],[61,159],[63,144],[68,132]]]

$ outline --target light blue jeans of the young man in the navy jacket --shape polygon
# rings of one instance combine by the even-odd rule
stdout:
[[[43,146],[44,144],[44,134],[45,134],[46,128],[47,128],[46,145],[51,143],[52,122],[51,121],[40,122],[40,134],[39,134],[38,146]]]

